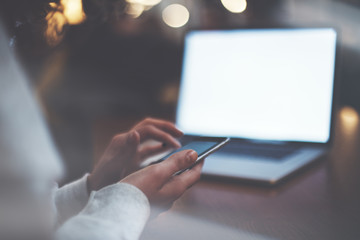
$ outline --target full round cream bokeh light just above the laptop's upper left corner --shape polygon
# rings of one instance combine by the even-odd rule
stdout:
[[[189,21],[190,13],[181,4],[171,4],[163,10],[162,17],[168,26],[179,28]]]

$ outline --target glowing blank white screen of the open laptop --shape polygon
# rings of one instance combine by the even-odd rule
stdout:
[[[330,28],[190,32],[177,125],[193,135],[325,143],[335,49]]]

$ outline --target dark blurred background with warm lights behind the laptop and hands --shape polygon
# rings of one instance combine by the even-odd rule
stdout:
[[[64,182],[90,171],[114,134],[146,116],[174,119],[191,29],[334,27],[338,105],[360,110],[360,0],[2,0],[0,14]]]

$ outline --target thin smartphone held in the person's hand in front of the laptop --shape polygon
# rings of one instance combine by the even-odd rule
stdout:
[[[183,147],[171,152],[170,154],[166,155],[165,157],[161,158],[160,160],[158,160],[154,163],[162,162],[162,161],[166,160],[168,157],[170,157],[171,155],[173,155],[174,153],[177,153],[177,152],[180,152],[183,150],[192,149],[195,152],[197,152],[198,158],[197,158],[196,162],[189,168],[180,170],[174,174],[174,175],[179,175],[179,174],[185,172],[186,170],[192,168],[193,166],[195,166],[200,160],[206,158],[210,154],[216,152],[217,150],[219,150],[220,148],[225,146],[229,141],[230,141],[230,138],[223,138],[223,137],[196,137],[196,138],[192,139],[190,142],[186,143]]]

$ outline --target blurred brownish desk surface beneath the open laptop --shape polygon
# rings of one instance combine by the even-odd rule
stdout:
[[[142,239],[360,239],[360,128],[337,114],[334,147],[276,187],[203,179]]]

